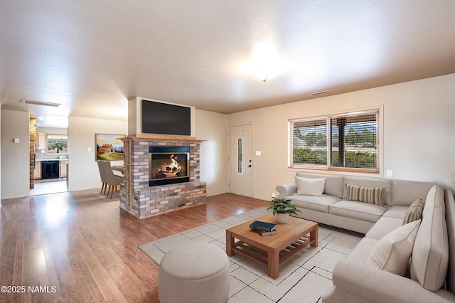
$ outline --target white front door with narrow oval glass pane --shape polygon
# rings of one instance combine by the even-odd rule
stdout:
[[[253,196],[252,124],[229,127],[229,192]]]

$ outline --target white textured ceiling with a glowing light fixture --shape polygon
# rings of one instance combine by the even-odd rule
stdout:
[[[127,119],[134,96],[230,113],[446,75],[454,16],[454,0],[1,1],[1,108],[64,126]],[[262,83],[247,61],[266,46]]]

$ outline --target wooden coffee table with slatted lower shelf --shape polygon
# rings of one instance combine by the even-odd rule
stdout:
[[[262,237],[252,231],[255,220],[277,224],[277,235]],[[235,241],[235,239],[238,239]],[[289,216],[287,223],[277,223],[269,213],[226,230],[226,253],[239,252],[252,260],[267,265],[269,277],[277,279],[278,267],[307,246],[318,246],[318,223]]]

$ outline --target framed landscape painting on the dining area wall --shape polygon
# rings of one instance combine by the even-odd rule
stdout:
[[[124,134],[95,134],[96,159],[105,161],[122,161],[124,159]]]

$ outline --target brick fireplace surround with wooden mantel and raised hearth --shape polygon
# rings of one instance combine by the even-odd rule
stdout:
[[[206,203],[206,184],[200,181],[201,140],[193,137],[163,137],[141,134],[124,142],[125,182],[120,186],[120,207],[137,218]],[[189,180],[150,186],[150,151],[164,147],[188,149]],[[188,181],[186,181],[188,180]]]

